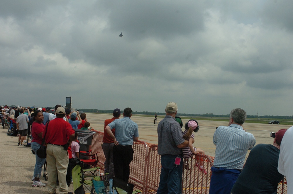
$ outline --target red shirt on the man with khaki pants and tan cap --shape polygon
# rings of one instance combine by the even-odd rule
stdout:
[[[63,118],[55,118],[54,120],[50,120],[47,125],[47,132],[46,127],[43,132],[43,137],[46,134],[46,143],[65,145],[67,144],[70,135],[75,132],[69,122],[66,122]]]

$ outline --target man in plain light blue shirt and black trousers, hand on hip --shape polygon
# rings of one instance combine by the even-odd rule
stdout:
[[[138,125],[133,122],[131,108],[125,108],[123,119],[116,119],[105,127],[105,131],[114,141],[113,163],[115,177],[128,182],[129,165],[133,160],[133,141],[138,140]],[[115,128],[115,135],[112,129]]]

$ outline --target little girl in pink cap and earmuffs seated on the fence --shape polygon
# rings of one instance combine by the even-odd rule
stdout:
[[[183,158],[185,160],[185,164],[184,164],[184,168],[185,169],[189,169],[188,165],[187,165],[187,159],[191,158],[193,156],[193,154],[204,154],[204,151],[193,147],[192,145],[192,141],[194,139],[194,134],[192,134],[192,132],[198,132],[199,130],[199,125],[197,120],[191,119],[189,120],[186,124],[185,124],[185,131],[183,132],[183,139],[188,140],[188,147],[184,147],[182,148],[182,153],[183,153]],[[198,169],[200,171],[202,171],[204,174],[206,174],[206,170],[203,168],[203,161],[199,160],[199,157],[197,156],[197,162],[195,164],[195,166],[198,167]]]

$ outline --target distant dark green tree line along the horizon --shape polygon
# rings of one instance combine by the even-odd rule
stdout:
[[[113,113],[113,110],[100,110],[100,109],[79,109],[86,113]],[[123,113],[123,110],[121,110],[121,114]],[[133,111],[132,114],[138,114],[138,115],[165,115],[166,113],[157,113],[157,112],[148,112],[148,111]],[[206,113],[206,114],[187,114],[187,113],[178,113],[178,116],[184,116],[184,117],[230,117],[230,114],[228,115],[214,115],[213,113]],[[263,115],[263,116],[257,116],[257,115],[247,115],[247,118],[276,118],[276,119],[291,119],[292,116],[274,116],[274,115]]]

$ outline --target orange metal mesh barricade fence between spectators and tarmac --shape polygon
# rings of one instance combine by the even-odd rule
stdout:
[[[101,144],[103,143],[104,133],[96,131],[92,140],[92,152],[98,152],[101,172],[104,171],[105,156]],[[136,189],[143,193],[157,193],[160,183],[161,162],[160,155],[157,153],[157,144],[150,144],[143,141],[137,141],[133,144],[133,161],[130,164],[129,182],[134,184]],[[184,161],[184,160],[183,160]],[[209,193],[211,166],[213,166],[214,157],[197,154],[186,161],[186,167],[183,165],[182,175],[182,193]],[[197,164],[198,163],[198,164]],[[202,164],[206,173],[199,169]],[[287,194],[286,178],[278,185],[277,194]]]

